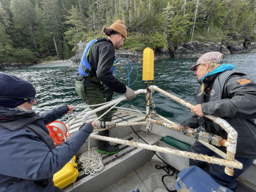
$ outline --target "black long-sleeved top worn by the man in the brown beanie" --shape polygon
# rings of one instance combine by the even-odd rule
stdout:
[[[108,88],[116,93],[125,93],[126,86],[118,81],[110,72],[115,57],[115,49],[111,41],[99,41],[91,48],[87,60],[93,68],[92,72],[97,74],[97,78]]]

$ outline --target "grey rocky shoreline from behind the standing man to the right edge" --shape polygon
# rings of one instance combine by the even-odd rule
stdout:
[[[82,58],[85,47],[79,48],[74,56],[72,67],[78,67],[80,60]],[[239,54],[239,53],[252,53],[256,52],[256,42],[250,42],[245,40],[244,42],[229,43],[227,46],[221,43],[202,43],[198,41],[188,42],[186,44],[182,43],[178,47],[174,48],[169,46],[169,51],[165,50],[154,50],[154,60],[162,60],[168,58],[191,58],[200,57],[207,52],[220,52],[224,55],[229,54]],[[138,63],[143,61],[142,51],[133,51],[127,49],[116,50],[116,57],[124,58],[132,61],[133,63]]]

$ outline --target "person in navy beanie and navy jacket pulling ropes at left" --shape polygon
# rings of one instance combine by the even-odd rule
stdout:
[[[31,108],[36,90],[19,77],[0,73],[0,191],[63,192],[54,186],[53,174],[81,148],[95,124],[82,125],[58,148],[47,124],[73,111],[62,106],[42,114]]]

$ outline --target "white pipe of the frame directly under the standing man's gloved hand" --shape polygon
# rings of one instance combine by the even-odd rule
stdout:
[[[146,90],[146,89],[139,89],[139,90],[134,91],[134,93],[135,93],[136,95],[137,95],[137,94],[140,94],[140,93],[147,93],[147,90]],[[120,98],[118,98],[117,100],[115,100],[115,101],[113,101],[113,102],[110,102],[110,103],[108,103],[108,104],[106,104],[106,105],[103,105],[103,106],[101,106],[101,107],[99,107],[99,108],[97,108],[97,109],[88,111],[88,112],[83,116],[83,118],[82,118],[82,124],[84,124],[84,123],[86,122],[86,119],[87,119],[89,116],[91,116],[91,115],[93,115],[93,114],[95,114],[95,113],[101,111],[102,109],[106,109],[106,108],[108,108],[108,107],[110,107],[110,106],[112,106],[112,105],[118,103],[119,101],[124,101],[124,100],[126,100],[126,97],[125,97],[125,96],[120,97]]]

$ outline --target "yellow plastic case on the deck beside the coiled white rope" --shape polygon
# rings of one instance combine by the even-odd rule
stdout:
[[[54,185],[60,189],[68,186],[76,181],[76,177],[79,175],[76,156],[74,156],[59,172],[53,175]]]

